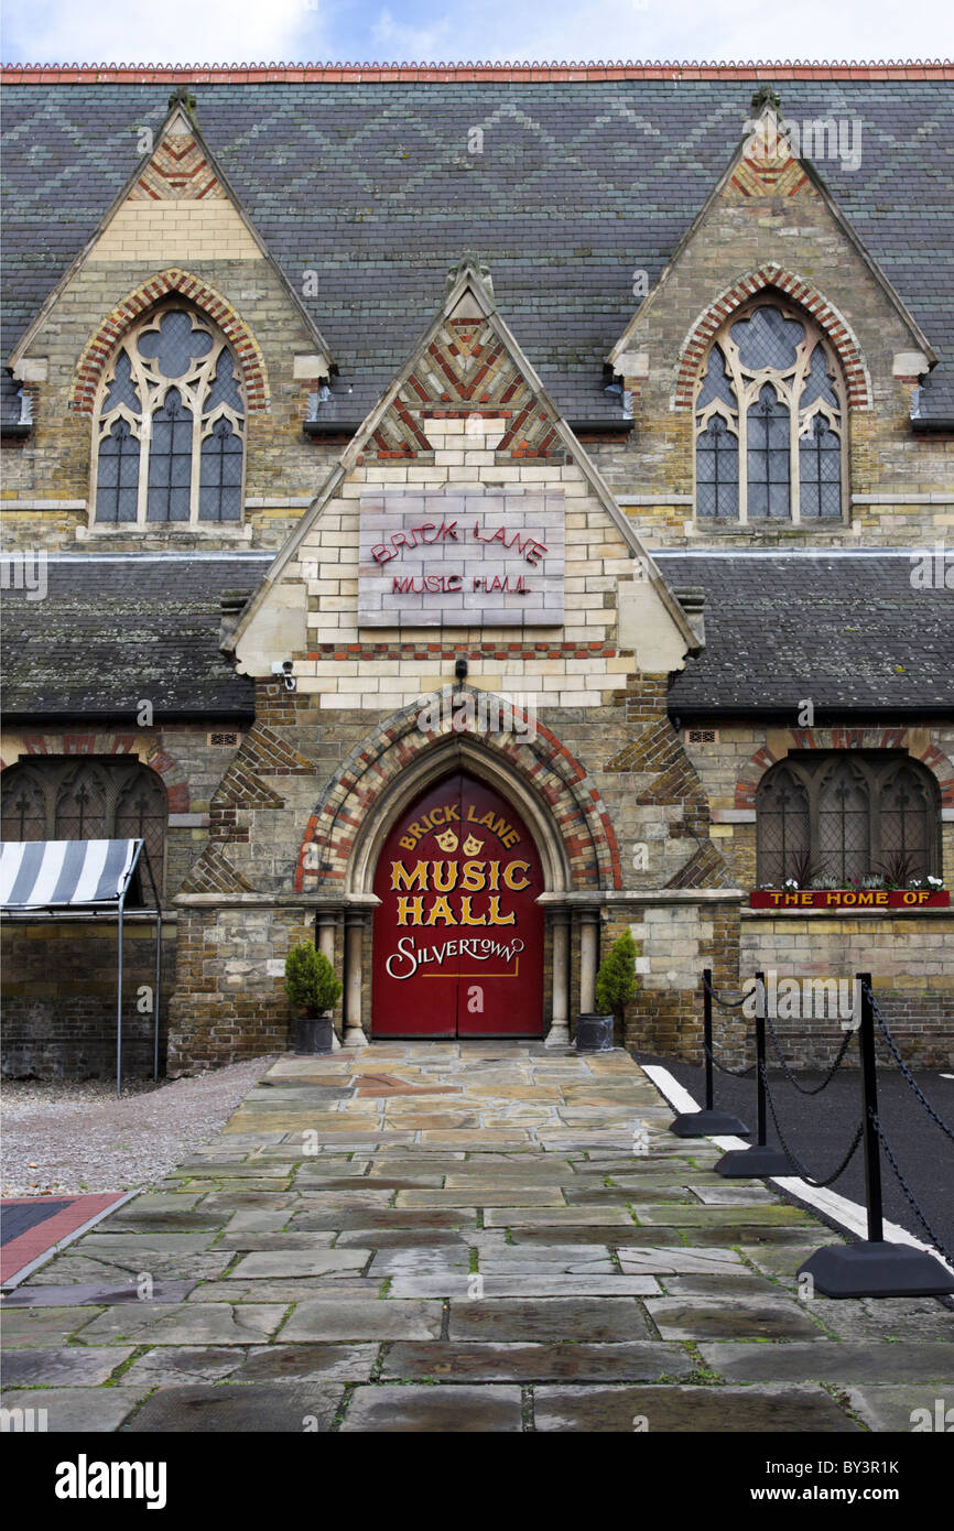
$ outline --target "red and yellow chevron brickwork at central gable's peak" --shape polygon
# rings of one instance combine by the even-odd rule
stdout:
[[[427,419],[488,415],[507,426],[498,462],[565,462],[550,409],[524,377],[492,317],[447,318],[364,442],[358,461],[433,461]],[[467,438],[462,439],[467,450]]]

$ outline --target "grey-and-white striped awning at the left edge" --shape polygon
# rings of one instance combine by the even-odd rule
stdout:
[[[0,908],[116,908],[142,841],[3,841]]]

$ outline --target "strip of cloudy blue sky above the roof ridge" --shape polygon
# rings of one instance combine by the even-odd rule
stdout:
[[[28,0],[8,63],[951,58],[949,0]]]

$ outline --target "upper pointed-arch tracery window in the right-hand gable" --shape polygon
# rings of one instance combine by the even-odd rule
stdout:
[[[845,390],[827,337],[763,294],[712,338],[695,398],[695,514],[712,525],[844,519]]]

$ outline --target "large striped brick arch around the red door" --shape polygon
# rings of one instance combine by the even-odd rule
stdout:
[[[308,821],[296,893],[345,890],[361,828],[375,805],[403,772],[429,752],[447,747],[453,735],[421,729],[420,717],[418,704],[403,707],[338,767]],[[574,890],[622,888],[619,845],[602,796],[550,729],[537,723],[533,741],[470,730],[461,736],[502,766],[548,814],[562,841]]]

